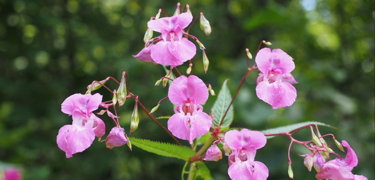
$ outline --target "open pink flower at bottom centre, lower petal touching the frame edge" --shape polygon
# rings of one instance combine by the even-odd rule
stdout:
[[[235,151],[228,157],[228,175],[232,180],[266,180],[268,168],[254,161],[257,149],[266,145],[266,136],[259,131],[248,129],[229,130],[225,133],[225,142]]]

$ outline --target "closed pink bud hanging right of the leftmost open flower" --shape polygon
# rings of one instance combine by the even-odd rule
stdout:
[[[105,145],[110,149],[124,145],[127,142],[129,142],[129,139],[126,139],[125,130],[121,127],[113,127],[110,134],[105,138]]]

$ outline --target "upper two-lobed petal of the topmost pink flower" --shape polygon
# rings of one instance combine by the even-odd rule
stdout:
[[[161,33],[164,28],[172,31],[176,25],[180,25],[181,28],[189,26],[193,16],[190,13],[181,13],[178,16],[159,18],[157,20],[150,20],[147,23],[148,28],[153,31]]]

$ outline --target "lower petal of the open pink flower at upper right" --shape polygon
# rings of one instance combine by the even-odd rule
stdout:
[[[281,81],[271,84],[262,81],[258,84],[256,91],[258,98],[272,105],[273,109],[290,106],[297,98],[296,88]]]

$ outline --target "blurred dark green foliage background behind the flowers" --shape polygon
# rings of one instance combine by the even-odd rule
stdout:
[[[66,159],[56,144],[58,129],[71,123],[61,103],[85,93],[93,80],[129,74],[133,93],[148,110],[167,95],[154,86],[165,75],[160,65],[136,60],[143,47],[147,21],[159,8],[172,15],[177,1],[161,0],[0,0],[0,162],[23,169],[25,179],[179,179],[181,160],[161,157],[124,145],[110,150],[94,141],[83,153]],[[233,127],[261,130],[301,121],[321,121],[338,127],[321,132],[347,140],[359,157],[354,174],[374,179],[374,0],[189,0],[193,14],[204,12],[212,33],[195,24],[191,34],[205,45],[210,67],[204,74],[202,54],[193,58],[193,72],[216,93],[226,78],[236,90],[246,71],[245,48],[255,57],[265,39],[295,60],[297,100],[272,110],[255,95],[257,72],[251,72],[234,102]],[[161,15],[161,17],[164,17]],[[157,34],[157,33],[154,33]],[[184,72],[187,63],[178,69]],[[117,89],[113,82],[111,89]],[[111,99],[105,89],[97,92]],[[210,96],[204,111],[215,100]],[[129,132],[134,101],[118,109]],[[172,115],[164,101],[155,116]],[[172,142],[141,110],[132,136]],[[107,134],[113,121],[101,117]],[[166,120],[160,120],[166,126]],[[302,131],[296,135],[308,140]],[[332,143],[329,139],[327,142]],[[183,142],[188,145],[187,141]],[[287,180],[286,137],[269,139],[258,150],[269,179]],[[333,148],[338,151],[336,147]],[[303,166],[306,153],[292,146],[295,179],[315,179]],[[229,179],[226,157],[207,162],[215,180]]]

